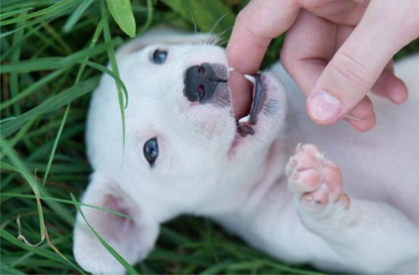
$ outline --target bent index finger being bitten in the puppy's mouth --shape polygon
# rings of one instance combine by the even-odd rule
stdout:
[[[237,15],[226,49],[236,71],[228,79],[236,119],[247,114],[251,103],[251,87],[242,75],[256,73],[270,41],[293,24],[298,9],[295,1],[258,0]]]

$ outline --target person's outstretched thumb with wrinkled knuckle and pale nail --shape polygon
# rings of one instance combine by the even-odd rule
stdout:
[[[374,8],[370,4],[307,98],[307,112],[318,124],[332,124],[352,110],[399,49],[392,22],[377,16]]]

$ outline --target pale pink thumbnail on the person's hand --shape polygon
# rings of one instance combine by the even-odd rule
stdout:
[[[319,91],[309,103],[311,115],[318,120],[328,120],[337,116],[341,110],[341,103],[325,91]]]

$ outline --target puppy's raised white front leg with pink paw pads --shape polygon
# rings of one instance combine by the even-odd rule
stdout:
[[[363,272],[419,261],[418,228],[388,204],[350,200],[339,168],[314,145],[297,146],[286,174],[302,224],[342,260]]]

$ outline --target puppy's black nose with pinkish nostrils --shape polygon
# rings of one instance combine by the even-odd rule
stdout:
[[[184,75],[184,95],[189,101],[205,103],[214,94],[219,82],[227,82],[216,76],[210,64],[191,66]]]

